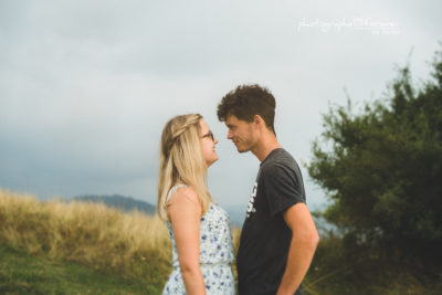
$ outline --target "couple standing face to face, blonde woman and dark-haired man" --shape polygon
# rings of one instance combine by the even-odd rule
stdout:
[[[259,85],[236,87],[218,106],[238,151],[261,161],[236,256],[240,295],[302,294],[319,240],[299,168],[276,139],[274,115],[275,98]],[[169,229],[173,265],[162,294],[235,294],[229,215],[206,186],[217,144],[199,114],[173,117],[162,130],[158,214]]]

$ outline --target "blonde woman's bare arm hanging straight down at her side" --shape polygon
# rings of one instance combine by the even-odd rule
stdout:
[[[197,193],[188,187],[178,189],[170,198],[167,213],[172,224],[186,293],[206,295],[204,281],[200,270],[202,209]]]

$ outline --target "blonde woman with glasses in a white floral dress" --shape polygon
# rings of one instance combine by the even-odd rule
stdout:
[[[162,130],[157,211],[169,229],[173,265],[162,294],[234,294],[229,215],[206,186],[217,144],[199,114],[173,117]]]

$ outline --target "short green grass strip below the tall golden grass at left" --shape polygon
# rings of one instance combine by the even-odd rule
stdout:
[[[138,280],[0,246],[0,294],[159,294]]]

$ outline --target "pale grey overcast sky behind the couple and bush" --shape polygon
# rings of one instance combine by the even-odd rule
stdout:
[[[276,97],[278,140],[303,165],[329,105],[385,97],[411,54],[427,80],[442,2],[0,2],[0,187],[41,199],[119,193],[156,203],[162,126],[200,113],[219,139],[209,189],[244,206],[259,161],[238,154],[217,105],[239,84]],[[345,91],[346,89],[346,91]]]

